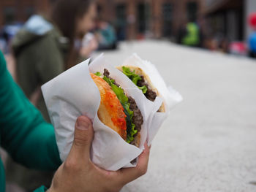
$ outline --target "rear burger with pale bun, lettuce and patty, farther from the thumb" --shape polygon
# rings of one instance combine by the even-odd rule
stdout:
[[[123,72],[137,87],[143,92],[146,99],[154,101],[159,95],[159,91],[154,87],[148,74],[138,66],[117,66],[116,69]],[[159,107],[158,112],[165,112],[165,105]]]

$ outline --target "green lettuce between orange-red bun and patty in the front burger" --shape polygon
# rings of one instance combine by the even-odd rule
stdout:
[[[114,93],[116,93],[116,96],[120,101],[121,105],[124,107],[124,113],[125,115],[127,115],[127,142],[130,143],[133,141],[133,136],[137,133],[137,130],[135,130],[135,124],[132,123],[133,111],[129,109],[130,104],[128,102],[128,97],[124,94],[122,88],[119,88],[117,85],[114,84],[115,80],[110,80],[110,78],[106,76],[103,77],[103,80],[108,82],[108,85],[111,86]]]

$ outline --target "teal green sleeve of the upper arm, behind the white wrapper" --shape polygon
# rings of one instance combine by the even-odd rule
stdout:
[[[0,142],[12,158],[29,168],[54,170],[61,160],[53,126],[12,80],[0,52]]]

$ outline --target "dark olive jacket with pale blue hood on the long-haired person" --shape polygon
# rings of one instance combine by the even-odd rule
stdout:
[[[18,84],[27,97],[45,82],[64,72],[69,41],[40,15],[32,16],[12,40]],[[36,106],[49,121],[42,93]]]

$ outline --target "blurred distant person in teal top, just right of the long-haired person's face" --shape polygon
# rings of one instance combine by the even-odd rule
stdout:
[[[98,20],[96,34],[99,42],[98,50],[116,49],[116,31],[110,23],[105,20]]]

